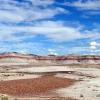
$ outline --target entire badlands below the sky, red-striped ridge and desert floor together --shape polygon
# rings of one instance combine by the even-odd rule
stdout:
[[[100,56],[2,53],[0,99],[100,100]]]

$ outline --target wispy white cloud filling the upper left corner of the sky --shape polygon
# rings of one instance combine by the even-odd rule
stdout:
[[[38,19],[52,18],[60,13],[68,13],[60,7],[48,7],[54,3],[53,0],[0,0],[0,21],[19,23],[23,21],[34,21]]]

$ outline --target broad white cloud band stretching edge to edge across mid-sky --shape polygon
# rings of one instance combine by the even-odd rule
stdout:
[[[79,27],[69,27],[60,21],[43,21],[35,23],[33,26],[5,26],[0,27],[1,41],[23,41],[36,35],[43,35],[56,42],[73,41],[83,38],[100,38],[100,33],[96,31],[81,31]],[[17,33],[24,35],[16,36]]]

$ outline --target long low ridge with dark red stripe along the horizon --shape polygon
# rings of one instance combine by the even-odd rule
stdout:
[[[65,65],[65,64],[100,64],[98,55],[66,55],[38,56],[21,53],[0,54],[0,64],[36,64],[36,65]]]

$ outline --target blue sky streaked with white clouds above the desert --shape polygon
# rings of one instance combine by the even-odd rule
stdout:
[[[0,52],[100,54],[99,43],[100,0],[0,0]]]

